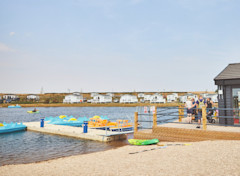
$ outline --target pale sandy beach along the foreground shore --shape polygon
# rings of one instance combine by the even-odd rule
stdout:
[[[190,146],[124,146],[40,163],[0,167],[1,176],[240,175],[240,141],[203,141]]]

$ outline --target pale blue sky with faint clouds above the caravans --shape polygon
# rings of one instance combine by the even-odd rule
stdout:
[[[1,0],[0,93],[215,91],[238,0]]]

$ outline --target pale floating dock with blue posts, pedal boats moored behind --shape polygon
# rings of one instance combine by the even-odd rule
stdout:
[[[62,135],[81,139],[95,140],[101,142],[110,142],[126,139],[126,134],[131,132],[112,132],[99,129],[88,129],[88,133],[83,133],[82,127],[72,127],[64,125],[45,124],[40,127],[39,122],[26,122],[27,130],[41,133]]]

